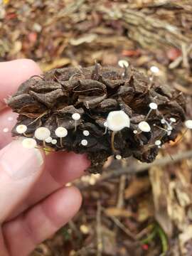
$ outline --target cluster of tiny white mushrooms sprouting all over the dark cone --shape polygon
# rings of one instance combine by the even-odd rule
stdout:
[[[124,68],[129,65],[126,60],[119,60],[119,66]],[[158,73],[159,68],[156,66],[151,66],[150,68],[152,73]],[[155,100],[155,99],[154,99]],[[146,114],[145,119],[142,122],[139,122],[137,129],[133,130],[134,136],[138,136],[141,132],[151,132],[151,127],[149,123],[147,122],[147,119],[152,111],[156,111],[156,113],[159,112],[158,105],[156,102],[151,102],[149,104],[149,112]],[[72,114],[72,119],[75,122],[75,131],[77,130],[77,121],[80,119],[79,113]],[[174,117],[170,117],[169,120],[165,119],[164,117],[161,119],[161,124],[164,125],[163,127],[158,127],[159,129],[164,130],[165,134],[168,136],[171,134],[171,131],[174,129],[174,123],[176,123],[176,119]],[[156,124],[154,124],[155,126]],[[192,129],[192,119],[188,119],[185,122],[186,129]],[[111,111],[107,115],[107,119],[104,122],[104,128],[106,134],[107,132],[111,132],[111,144],[112,144],[112,151],[114,153],[114,156],[116,159],[122,159],[122,156],[118,154],[118,151],[114,148],[114,136],[117,134],[117,132],[121,131],[125,127],[130,127],[130,118],[128,114],[126,114],[123,110],[117,110],[117,111]],[[23,139],[22,144],[23,147],[26,149],[33,149],[37,147],[36,139],[43,142],[43,147],[46,149],[46,144],[57,144],[58,140],[60,143],[60,146],[63,147],[63,138],[68,136],[68,130],[65,127],[57,127],[55,129],[55,136],[58,137],[57,139],[53,139],[50,137],[50,130],[47,127],[38,127],[36,131],[34,132],[33,138],[28,138],[26,135],[27,126],[24,124],[18,124],[16,127],[16,132],[18,134],[23,134],[26,138]],[[82,131],[82,134],[85,136],[86,139],[82,139],[80,144],[82,146],[88,146],[88,139],[90,132],[88,130]],[[161,148],[161,138],[157,139],[153,145],[150,146],[157,146],[158,148]]]

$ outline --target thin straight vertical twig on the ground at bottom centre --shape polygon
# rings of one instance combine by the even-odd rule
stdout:
[[[97,201],[97,256],[102,256],[102,224],[100,201]]]

